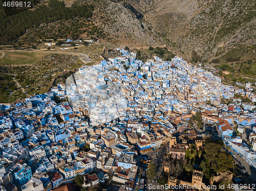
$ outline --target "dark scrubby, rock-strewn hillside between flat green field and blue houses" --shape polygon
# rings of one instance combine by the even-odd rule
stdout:
[[[22,93],[22,89],[18,88],[13,81],[14,77],[27,94],[33,95],[34,93],[46,92],[58,75],[68,73],[70,70],[73,71],[83,65],[83,62],[75,55],[51,53],[51,55],[41,56],[42,58],[34,57],[39,61],[31,61],[31,65],[0,64],[0,103],[10,103],[26,97]],[[59,79],[61,82],[66,80],[62,76]]]

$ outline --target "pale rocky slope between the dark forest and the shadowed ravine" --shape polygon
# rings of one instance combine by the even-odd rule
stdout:
[[[143,15],[122,1],[85,1],[94,5],[93,22],[108,34],[108,40],[143,45],[163,45],[164,41],[143,22]],[[136,43],[135,43],[136,44]]]

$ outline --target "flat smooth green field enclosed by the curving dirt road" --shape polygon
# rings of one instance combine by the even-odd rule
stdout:
[[[0,53],[2,56],[2,53]],[[36,52],[13,52],[6,51],[5,56],[0,59],[0,65],[22,65],[33,64],[46,55],[53,53],[36,53]]]

